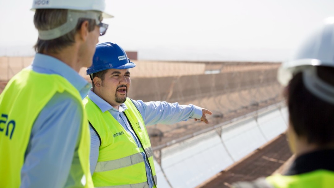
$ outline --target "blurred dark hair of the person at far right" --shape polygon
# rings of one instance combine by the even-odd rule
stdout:
[[[334,86],[334,68],[319,66],[320,79]],[[291,126],[299,137],[310,144],[326,146],[334,143],[334,105],[314,96],[304,85],[302,73],[296,74],[288,86],[288,108]]]

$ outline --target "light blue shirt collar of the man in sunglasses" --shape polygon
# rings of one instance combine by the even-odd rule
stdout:
[[[87,92],[91,87],[91,84],[74,69],[52,56],[36,53],[32,67],[43,68],[51,73],[61,75],[80,92],[82,99],[87,96]]]

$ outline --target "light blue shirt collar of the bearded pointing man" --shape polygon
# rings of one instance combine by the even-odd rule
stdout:
[[[102,113],[105,113],[106,111],[112,110],[112,111],[117,111],[117,112],[124,112],[128,108],[126,105],[123,103],[119,106],[119,110],[115,109],[113,106],[111,106],[107,101],[103,100],[101,97],[96,95],[93,92],[93,88],[91,88],[88,91],[88,98],[92,100],[102,111]]]

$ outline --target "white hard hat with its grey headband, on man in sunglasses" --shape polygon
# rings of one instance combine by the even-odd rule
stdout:
[[[114,17],[105,12],[105,0],[33,0],[31,10],[36,9],[68,9],[67,21],[63,25],[49,30],[38,30],[41,40],[52,40],[70,32],[75,28],[79,18],[94,19],[100,24],[99,12],[102,12],[103,18]],[[100,27],[100,33],[103,35],[108,25],[101,24],[104,25]]]

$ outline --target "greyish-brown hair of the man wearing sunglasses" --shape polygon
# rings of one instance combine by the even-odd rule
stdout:
[[[38,30],[48,30],[56,28],[67,21],[67,9],[36,9],[34,15],[34,24]],[[84,21],[88,20],[88,31],[95,29],[96,22],[94,19],[79,18],[75,28],[63,36],[51,40],[37,39],[34,45],[38,53],[52,52],[58,53],[62,48],[72,45],[75,42],[74,35],[80,30]]]

